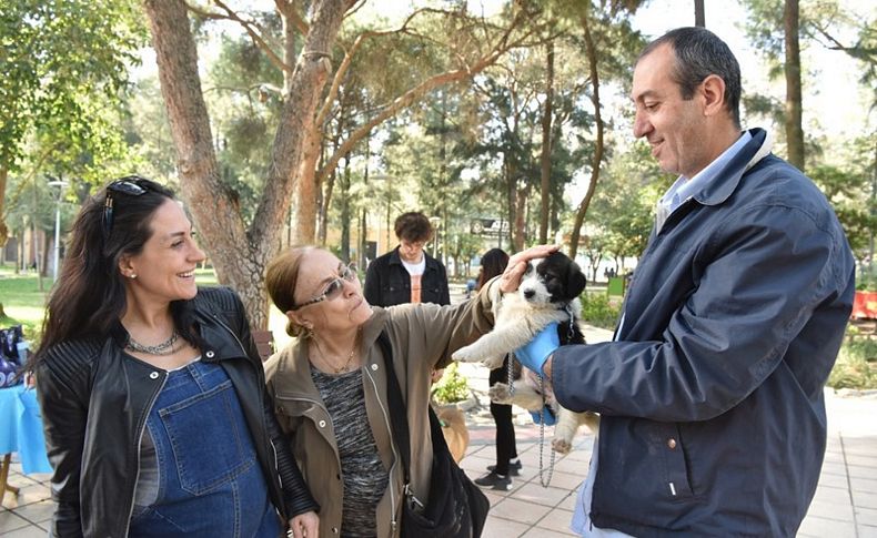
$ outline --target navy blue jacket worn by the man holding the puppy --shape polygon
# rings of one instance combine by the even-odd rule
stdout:
[[[855,265],[825,196],[752,134],[653,231],[617,342],[554,354],[558,402],[602,414],[597,527],[794,536],[813,499]]]

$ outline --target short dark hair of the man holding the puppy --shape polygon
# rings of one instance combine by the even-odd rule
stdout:
[[[710,74],[722,78],[725,81],[725,106],[739,128],[740,65],[728,45],[706,28],[677,28],[648,43],[637,63],[663,44],[669,44],[676,58],[672,77],[679,84],[683,99],[692,99],[695,89]]]

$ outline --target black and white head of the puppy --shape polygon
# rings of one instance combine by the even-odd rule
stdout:
[[[518,291],[530,303],[568,303],[585,291],[586,282],[578,264],[555,252],[531,260]]]

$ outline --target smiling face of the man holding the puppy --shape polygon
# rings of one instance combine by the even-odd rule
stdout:
[[[645,136],[663,171],[692,177],[712,161],[710,140],[704,100],[698,91],[689,100],[682,98],[672,78],[675,63],[668,44],[637,63],[631,92],[636,105],[634,136]]]

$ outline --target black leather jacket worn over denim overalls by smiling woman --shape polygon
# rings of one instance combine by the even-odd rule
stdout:
[[[241,300],[228,288],[203,288],[187,307],[205,343],[202,361],[220,363],[234,386],[271,500],[284,520],[317,509],[278,428]],[[37,366],[58,503],[50,536],[128,535],[140,441],[167,373],[123,355],[127,338],[119,324],[102,342],[53,346]]]

